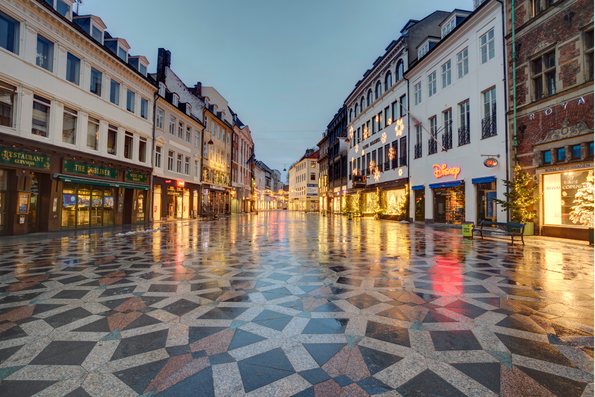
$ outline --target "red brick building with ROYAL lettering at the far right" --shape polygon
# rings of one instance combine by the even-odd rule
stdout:
[[[592,223],[569,213],[593,175],[593,2],[515,1],[516,152],[511,0],[506,15],[510,168],[540,184],[536,234],[587,240]]]

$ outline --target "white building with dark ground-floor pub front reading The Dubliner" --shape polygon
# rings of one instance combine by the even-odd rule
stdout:
[[[0,234],[149,222],[149,63],[52,3],[0,3]]]

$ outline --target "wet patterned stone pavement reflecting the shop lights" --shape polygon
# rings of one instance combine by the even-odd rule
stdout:
[[[584,242],[286,211],[158,226],[0,239],[1,396],[593,396]]]

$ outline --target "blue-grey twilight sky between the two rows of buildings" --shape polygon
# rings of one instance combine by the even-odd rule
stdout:
[[[213,86],[248,124],[270,168],[314,147],[347,94],[410,19],[472,0],[83,0],[131,55],[171,51],[193,87]],[[289,131],[289,132],[286,132]],[[282,174],[285,174],[282,172]],[[283,175],[283,181],[285,177]]]

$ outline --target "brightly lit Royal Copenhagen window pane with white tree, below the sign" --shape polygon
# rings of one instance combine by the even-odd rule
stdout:
[[[593,170],[543,175],[544,224],[593,226]]]

